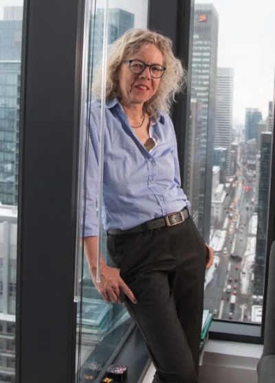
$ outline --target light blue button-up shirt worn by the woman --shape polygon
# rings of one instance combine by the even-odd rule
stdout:
[[[100,102],[90,105],[85,237],[98,234]],[[138,129],[138,128],[137,128]],[[135,134],[117,98],[106,103],[102,222],[105,230],[126,230],[187,206],[180,185],[177,142],[167,113],[151,118],[151,151]]]

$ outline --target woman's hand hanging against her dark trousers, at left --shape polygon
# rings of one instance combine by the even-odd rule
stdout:
[[[94,285],[98,289],[98,292],[103,296],[104,300],[113,303],[123,303],[122,292],[128,296],[131,301],[136,304],[137,299],[129,289],[129,287],[122,281],[120,277],[120,270],[115,267],[109,267],[107,265],[101,265],[101,277],[100,283],[96,282],[96,270],[91,269],[91,278],[94,281]]]

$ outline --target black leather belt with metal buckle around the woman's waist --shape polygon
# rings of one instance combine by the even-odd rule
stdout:
[[[185,221],[189,217],[188,208],[183,208],[179,212],[172,212],[168,215],[164,215],[161,218],[151,219],[151,221],[147,221],[142,223],[141,225],[135,226],[134,228],[127,230],[120,229],[111,229],[108,230],[108,234],[128,234],[130,232],[143,232],[145,230],[153,230],[157,228],[162,228],[164,226],[175,226],[178,223]]]

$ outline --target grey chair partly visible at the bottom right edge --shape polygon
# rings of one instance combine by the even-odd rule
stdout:
[[[267,307],[265,315],[265,338],[263,354],[257,366],[259,383],[275,383],[275,241],[270,251],[268,273]]]

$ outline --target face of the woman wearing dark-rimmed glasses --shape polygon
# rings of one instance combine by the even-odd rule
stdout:
[[[126,57],[126,60],[140,60],[148,65],[163,65],[163,54],[153,44],[148,44],[144,49]],[[129,68],[129,63],[122,63],[118,72],[118,83],[120,89],[121,102],[124,105],[143,104],[153,97],[161,78],[153,78],[149,68],[145,67],[142,74],[133,74]],[[142,87],[142,89],[140,88]]]

